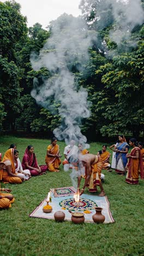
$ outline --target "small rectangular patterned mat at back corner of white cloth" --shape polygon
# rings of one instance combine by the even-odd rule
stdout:
[[[70,196],[76,193],[76,189],[74,187],[55,188],[52,189],[52,191],[55,197]]]

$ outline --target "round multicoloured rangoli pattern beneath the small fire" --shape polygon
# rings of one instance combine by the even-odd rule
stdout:
[[[70,198],[70,199],[65,199],[59,202],[59,206],[64,207],[65,209],[70,211],[87,211],[87,210],[93,210],[94,207],[98,205],[92,200],[84,199],[84,198],[80,198],[79,205],[77,205],[75,200],[73,198],[72,199]]]

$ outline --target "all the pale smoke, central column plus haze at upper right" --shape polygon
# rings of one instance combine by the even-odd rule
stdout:
[[[81,3],[84,9],[88,8],[88,1],[86,5],[85,0]],[[140,0],[89,0],[88,10],[90,14],[92,11],[95,13],[95,18],[89,24],[93,25],[96,22],[98,29],[109,26],[111,20],[116,21],[115,26],[110,28],[109,36],[117,44],[117,49],[110,52],[105,47],[105,42],[101,42],[106,56],[120,52],[121,42],[130,38],[133,28],[143,22]],[[34,79],[31,95],[38,104],[49,109],[53,115],[56,114],[53,102],[57,104],[61,125],[53,133],[59,140],[64,139],[67,144],[74,139],[86,145],[87,138],[82,135],[80,125],[83,118],[91,115],[89,110],[91,102],[87,101],[87,91],[76,82],[74,75],[83,71],[89,60],[88,48],[92,42],[97,44],[98,40],[97,32],[88,30],[88,22],[86,24],[85,20],[83,15],[74,18],[72,15],[64,14],[56,21],[52,21],[51,37],[40,50],[39,55],[31,54],[31,63],[35,71],[45,67],[50,72],[49,79],[43,78],[42,85],[39,85],[36,78]],[[123,50],[127,51],[131,45],[136,45],[135,38],[130,39],[127,45],[123,45]]]

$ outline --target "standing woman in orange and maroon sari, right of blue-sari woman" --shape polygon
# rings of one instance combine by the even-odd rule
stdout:
[[[127,154],[127,158],[129,158],[128,162],[128,172],[125,181],[129,184],[139,184],[139,173],[141,179],[144,178],[143,166],[142,166],[142,157],[141,150],[137,147],[136,139],[131,138],[129,141],[131,149],[130,154]]]

